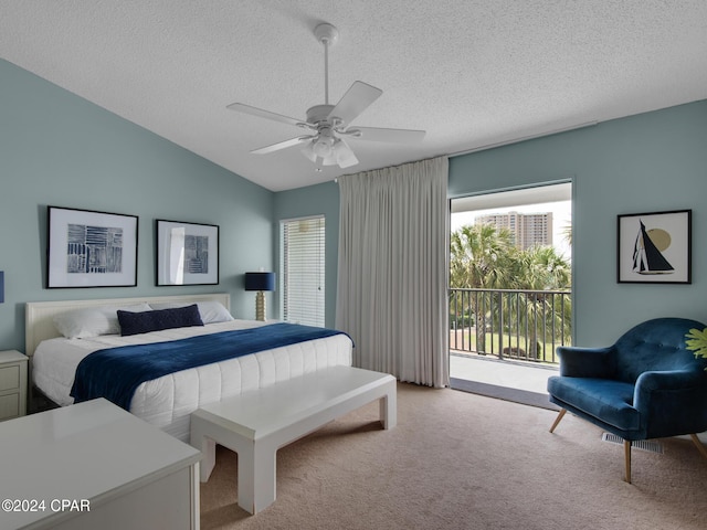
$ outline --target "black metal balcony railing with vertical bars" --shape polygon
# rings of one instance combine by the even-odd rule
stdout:
[[[571,343],[571,292],[450,289],[450,350],[557,364]]]

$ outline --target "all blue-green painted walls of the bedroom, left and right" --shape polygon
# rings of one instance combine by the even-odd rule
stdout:
[[[277,222],[327,221],[326,324],[336,311],[338,186],[272,193],[0,61],[0,349],[24,346],[24,303],[229,292],[251,317],[242,274],[276,269]],[[602,344],[645,318],[707,321],[707,100],[452,158],[450,197],[572,179],[577,343]],[[139,215],[138,286],[45,289],[46,205]],[[615,279],[616,215],[693,210],[693,284]],[[156,287],[154,221],[221,227],[221,285]],[[278,293],[268,303],[278,316]]]

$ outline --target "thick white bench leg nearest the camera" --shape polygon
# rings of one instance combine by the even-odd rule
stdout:
[[[275,501],[276,448],[253,443],[239,452],[239,506],[257,513]]]

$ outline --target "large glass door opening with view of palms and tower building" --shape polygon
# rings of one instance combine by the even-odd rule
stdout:
[[[450,209],[451,386],[496,398],[508,394],[495,386],[511,386],[537,404],[541,372],[557,368],[558,346],[572,343],[572,182],[456,198]],[[503,362],[472,361],[476,353],[514,370],[523,361],[521,379],[513,382]]]

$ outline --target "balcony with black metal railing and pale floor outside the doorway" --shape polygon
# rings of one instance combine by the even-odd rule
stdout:
[[[571,343],[571,292],[450,289],[452,388],[553,409],[547,379]]]

